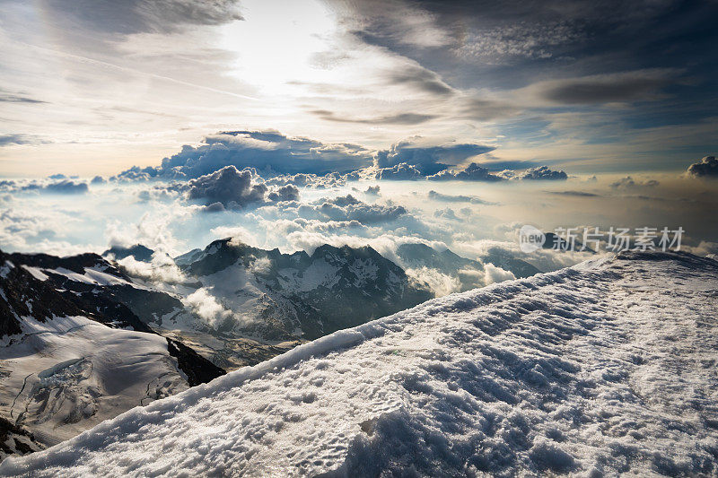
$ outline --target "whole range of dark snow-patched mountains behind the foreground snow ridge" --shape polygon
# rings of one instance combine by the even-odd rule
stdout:
[[[446,274],[483,267],[425,246],[399,254]],[[139,245],[103,256],[0,252],[0,417],[9,423],[0,432],[15,437],[4,454],[54,445],[136,405],[434,297],[370,247],[283,254],[215,240],[171,260],[174,282],[127,266],[151,265],[154,255]]]

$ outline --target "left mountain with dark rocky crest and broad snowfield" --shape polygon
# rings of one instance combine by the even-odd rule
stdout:
[[[0,251],[0,418],[12,425],[0,432],[13,435],[4,454],[69,439],[223,375],[116,300],[109,288],[127,281],[93,254]]]

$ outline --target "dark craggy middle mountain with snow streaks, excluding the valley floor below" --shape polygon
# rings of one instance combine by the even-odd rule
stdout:
[[[220,239],[181,257],[179,264],[195,291],[211,294],[231,313],[211,325],[178,316],[163,317],[153,326],[220,338],[311,340],[433,297],[428,287],[409,281],[401,267],[370,247],[323,245],[310,256]]]

